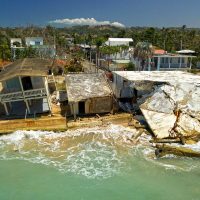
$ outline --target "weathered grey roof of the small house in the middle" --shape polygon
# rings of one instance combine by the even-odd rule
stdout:
[[[111,95],[108,83],[102,74],[68,74],[66,87],[69,102]]]

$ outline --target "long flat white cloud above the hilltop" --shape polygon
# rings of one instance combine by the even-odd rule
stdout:
[[[98,25],[111,25],[116,27],[125,27],[124,24],[119,22],[110,22],[110,21],[97,21],[94,18],[75,18],[75,19],[56,19],[50,21],[51,24],[59,24],[59,25],[89,25],[89,26],[98,26]]]

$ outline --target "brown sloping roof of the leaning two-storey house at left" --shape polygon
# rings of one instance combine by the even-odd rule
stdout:
[[[5,81],[15,76],[47,76],[48,69],[52,66],[52,63],[51,60],[39,58],[17,60],[0,72],[0,81]]]

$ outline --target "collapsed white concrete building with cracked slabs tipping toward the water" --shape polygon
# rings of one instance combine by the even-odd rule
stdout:
[[[137,98],[157,138],[200,133],[200,76],[187,72],[113,72],[116,97]]]

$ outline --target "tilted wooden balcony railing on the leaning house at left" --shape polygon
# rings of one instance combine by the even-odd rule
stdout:
[[[24,99],[38,98],[47,96],[46,89],[26,90],[24,92],[14,92],[8,94],[0,94],[0,102],[13,102]]]

